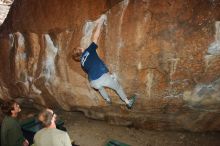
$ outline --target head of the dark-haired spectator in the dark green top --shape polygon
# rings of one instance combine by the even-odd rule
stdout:
[[[5,115],[17,117],[17,114],[21,111],[21,108],[15,100],[9,100],[2,104],[1,110]]]

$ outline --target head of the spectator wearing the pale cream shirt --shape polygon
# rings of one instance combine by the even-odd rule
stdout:
[[[51,109],[45,109],[39,114],[39,120],[45,127],[56,126],[56,114]]]

